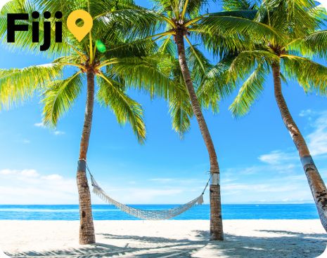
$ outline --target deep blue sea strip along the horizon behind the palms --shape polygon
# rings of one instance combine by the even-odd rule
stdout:
[[[143,210],[162,210],[177,205],[132,205]],[[224,219],[319,219],[314,204],[223,205]],[[93,205],[96,220],[136,219],[112,205]],[[174,219],[209,219],[210,206],[197,205]],[[78,220],[78,205],[0,205],[0,219]]]

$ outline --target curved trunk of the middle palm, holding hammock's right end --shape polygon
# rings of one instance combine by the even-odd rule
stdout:
[[[179,54],[179,64],[181,72],[184,76],[184,81],[188,90],[188,95],[191,99],[193,112],[198,121],[203,140],[207,147],[210,157],[210,172],[212,174],[212,181],[210,184],[210,240],[224,240],[224,231],[222,226],[222,203],[220,197],[220,182],[219,182],[219,165],[217,161],[217,154],[214,149],[214,144],[207,128],[207,123],[203,117],[202,109],[196,96],[193,82],[191,80],[190,70],[186,62],[185,45],[184,45],[184,32],[177,31],[176,43]]]

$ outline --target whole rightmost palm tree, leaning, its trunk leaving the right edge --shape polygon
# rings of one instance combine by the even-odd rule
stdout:
[[[231,6],[225,1],[225,6],[237,10],[246,3],[235,2],[239,4]],[[278,30],[281,36],[274,41],[267,38],[258,41],[250,37],[248,40],[255,42],[255,48],[233,53],[229,73],[232,81],[243,81],[230,107],[233,116],[243,116],[259,97],[272,71],[274,94],[281,117],[297,148],[321,223],[327,231],[327,189],[282,93],[282,81],[292,79],[297,80],[305,93],[327,94],[327,67],[311,58],[314,55],[326,57],[327,32],[319,30],[324,18],[326,12],[316,8],[314,1],[264,1],[257,8],[255,20]]]

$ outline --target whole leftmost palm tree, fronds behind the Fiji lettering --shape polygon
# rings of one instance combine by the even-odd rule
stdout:
[[[158,69],[158,56],[150,56],[153,44],[129,43],[122,37],[120,30],[116,30],[120,11],[125,8],[135,8],[132,1],[44,1],[43,10],[65,10],[69,15],[76,9],[89,11],[94,18],[94,27],[81,42],[64,29],[67,37],[62,44],[54,44],[49,50],[49,55],[61,55],[51,64],[32,66],[25,69],[0,70],[0,107],[10,107],[13,102],[25,101],[36,90],[42,92],[44,104],[44,124],[56,126],[58,119],[65,114],[82,93],[86,83],[86,109],[82,139],[79,148],[79,162],[77,168],[77,187],[79,192],[79,243],[95,243],[94,222],[91,212],[91,195],[86,177],[86,158],[91,135],[92,116],[96,100],[104,107],[110,108],[121,124],[130,123],[139,140],[143,143],[146,138],[146,127],[143,122],[143,109],[141,105],[132,100],[126,90],[129,87],[144,89],[153,95],[174,96],[168,93],[171,81],[169,77]],[[15,0],[8,3],[1,12],[1,17],[6,13],[37,10],[35,6],[24,0]],[[108,13],[110,9],[115,19],[103,19],[101,13]],[[118,13],[118,15],[117,15]],[[63,19],[66,19],[64,17]],[[2,21],[2,20],[1,20]],[[111,23],[111,24],[110,24]],[[131,22],[129,21],[129,24]],[[2,34],[4,23],[1,22]],[[112,27],[113,29],[108,29]],[[118,26],[118,25],[117,25]],[[37,50],[37,46],[26,42],[27,34],[18,33],[15,46]],[[54,34],[53,34],[54,35]],[[94,38],[96,40],[94,40]],[[74,72],[65,76],[65,67],[71,67]],[[70,70],[72,72],[72,70]],[[96,86],[98,86],[96,90]],[[177,92],[178,90],[174,90]],[[167,97],[166,96],[166,97]]]

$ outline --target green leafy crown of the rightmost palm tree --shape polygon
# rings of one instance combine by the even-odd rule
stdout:
[[[231,79],[243,81],[230,107],[234,116],[248,113],[273,64],[281,64],[284,81],[296,80],[306,93],[326,95],[327,68],[311,58],[326,55],[327,32],[321,30],[325,15],[312,1],[264,1],[257,8],[255,20],[278,30],[281,36],[259,41],[249,37],[255,42],[254,48],[234,53],[229,67]]]

